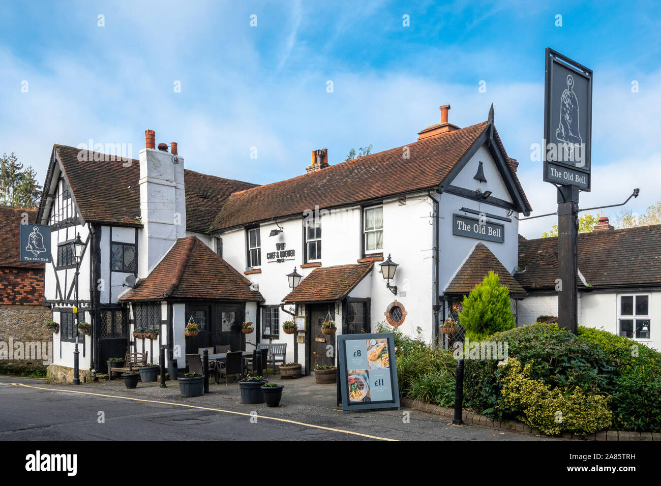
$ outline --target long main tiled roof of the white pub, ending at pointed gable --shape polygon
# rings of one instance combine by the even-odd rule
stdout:
[[[408,159],[403,158],[405,147],[397,147],[286,181],[236,192],[227,198],[211,230],[303,214],[315,206],[331,208],[433,188],[444,181],[489,126],[488,122],[482,122],[436,138],[409,143],[405,146],[410,155]],[[507,157],[498,133],[495,130],[494,133],[529,207],[512,161]]]

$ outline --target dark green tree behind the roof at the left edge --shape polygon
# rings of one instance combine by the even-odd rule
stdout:
[[[32,166],[23,169],[12,152],[0,157],[0,204],[21,208],[34,208],[41,196],[41,186]]]

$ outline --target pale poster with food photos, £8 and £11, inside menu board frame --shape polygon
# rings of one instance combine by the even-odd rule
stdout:
[[[387,339],[347,341],[346,362],[349,403],[393,399]]]

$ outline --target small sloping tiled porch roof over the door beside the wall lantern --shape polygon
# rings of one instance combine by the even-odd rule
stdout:
[[[315,268],[282,302],[326,302],[346,297],[372,269],[373,262]]]

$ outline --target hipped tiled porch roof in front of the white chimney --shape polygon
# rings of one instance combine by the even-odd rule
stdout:
[[[210,299],[263,301],[250,280],[195,236],[180,238],[147,278],[120,300]]]

